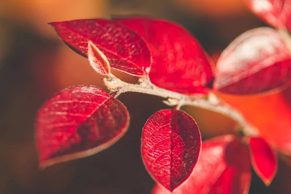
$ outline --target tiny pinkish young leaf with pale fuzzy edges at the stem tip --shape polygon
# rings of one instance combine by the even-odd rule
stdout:
[[[107,57],[90,40],[88,41],[88,60],[93,69],[102,75],[110,74]]]

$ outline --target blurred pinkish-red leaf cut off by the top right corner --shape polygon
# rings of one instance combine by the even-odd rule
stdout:
[[[285,26],[291,12],[290,0],[246,0],[246,3],[251,11],[276,28]]]

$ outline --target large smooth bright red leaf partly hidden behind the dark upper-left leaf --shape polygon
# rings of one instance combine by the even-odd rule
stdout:
[[[205,94],[213,75],[210,58],[184,28],[164,20],[134,17],[114,19],[141,35],[152,55],[150,81],[182,94]]]

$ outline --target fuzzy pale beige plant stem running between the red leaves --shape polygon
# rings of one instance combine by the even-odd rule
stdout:
[[[127,83],[116,77],[105,78],[103,81],[111,92],[115,92],[115,98],[125,92],[137,92],[164,97],[167,98],[167,100],[163,101],[165,104],[177,106],[178,109],[184,105],[189,105],[224,114],[233,119],[240,126],[244,135],[258,135],[258,130],[251,126],[240,112],[219,100],[214,94],[210,94],[207,99],[202,97],[191,97],[159,88],[146,79],[140,79],[139,84]]]

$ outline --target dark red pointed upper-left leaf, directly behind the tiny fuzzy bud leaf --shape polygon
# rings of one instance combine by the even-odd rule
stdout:
[[[143,39],[126,27],[105,19],[80,19],[50,23],[65,43],[87,57],[90,40],[108,58],[111,67],[146,76],[151,56]]]

